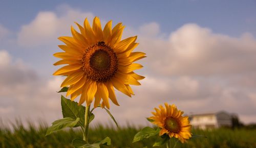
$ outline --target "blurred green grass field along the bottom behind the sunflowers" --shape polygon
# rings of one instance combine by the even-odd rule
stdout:
[[[71,141],[73,138],[82,138],[82,133],[79,130],[66,130],[58,131],[45,137],[47,128],[46,126],[40,126],[35,128],[29,126],[24,128],[23,125],[17,124],[13,126],[13,129],[0,128],[0,147],[6,148],[18,148],[18,147],[73,147]],[[42,124],[45,125],[45,124]],[[112,127],[103,128],[102,126],[96,126],[90,131],[89,141],[100,140],[109,136],[111,138],[111,146],[101,147],[152,147],[154,138],[146,139],[140,142],[132,143],[134,135],[139,129],[134,127],[126,127],[115,129]],[[190,139],[188,143],[181,144],[177,142],[177,147],[207,147],[207,148],[255,148],[256,147],[256,129],[216,129],[216,130],[193,130],[193,134],[205,135],[207,138],[194,138]],[[175,142],[175,141],[174,141]],[[159,146],[160,147],[160,146]],[[161,146],[164,147],[164,146]]]

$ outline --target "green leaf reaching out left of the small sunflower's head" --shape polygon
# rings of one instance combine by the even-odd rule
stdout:
[[[153,129],[153,128],[150,128],[150,127],[145,127],[143,128],[142,130],[140,130],[135,136],[134,136],[134,139],[133,139],[133,143],[134,142],[137,142],[137,141],[140,141],[142,139],[145,139],[145,138],[149,138],[151,136],[155,136],[156,134],[158,134],[160,131],[160,129],[158,128],[157,130]]]

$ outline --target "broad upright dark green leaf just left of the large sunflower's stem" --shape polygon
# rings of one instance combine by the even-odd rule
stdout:
[[[78,103],[69,100],[68,98],[61,95],[61,109],[63,118],[71,117],[73,119],[80,118],[79,122],[75,127],[84,127],[84,114],[86,112],[86,107],[80,105]]]

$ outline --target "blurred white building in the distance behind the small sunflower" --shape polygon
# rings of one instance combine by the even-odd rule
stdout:
[[[229,114],[225,111],[191,114],[189,115],[190,124],[194,128],[212,129],[219,127],[231,127],[232,117],[236,115]]]

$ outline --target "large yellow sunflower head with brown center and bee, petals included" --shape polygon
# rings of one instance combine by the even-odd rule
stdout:
[[[100,20],[95,17],[92,27],[86,18],[83,26],[76,23],[80,33],[71,27],[72,37],[59,37],[66,45],[59,45],[63,52],[54,56],[62,60],[54,65],[66,64],[53,75],[67,76],[61,87],[69,86],[67,96],[73,101],[80,95],[79,105],[89,106],[94,98],[94,107],[110,108],[110,100],[119,105],[114,87],[131,97],[131,85],[140,85],[144,79],[134,70],[143,66],[133,63],[145,57],[144,53],[132,52],[138,45],[137,36],[121,40],[124,26],[118,23],[112,29],[112,21],[106,23],[103,31]],[[102,99],[102,102],[101,102]]]

